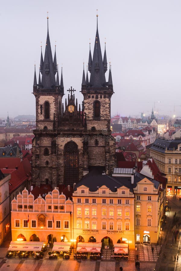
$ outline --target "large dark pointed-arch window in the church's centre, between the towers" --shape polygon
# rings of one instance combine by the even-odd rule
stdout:
[[[72,185],[79,181],[78,146],[70,141],[64,147],[64,184]]]

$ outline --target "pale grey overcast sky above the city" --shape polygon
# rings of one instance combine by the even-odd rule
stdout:
[[[47,11],[59,71],[63,64],[65,95],[72,86],[78,103],[82,102],[83,60],[86,66],[89,39],[93,53],[96,9],[102,54],[106,37],[112,65],[111,115],[151,114],[152,107],[173,115],[175,105],[175,114],[181,116],[180,0],[9,0],[0,4],[1,117],[7,111],[10,117],[35,114],[34,61],[38,75]]]

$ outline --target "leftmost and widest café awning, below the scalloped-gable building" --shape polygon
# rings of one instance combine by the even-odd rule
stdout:
[[[41,251],[44,242],[11,241],[8,250]]]

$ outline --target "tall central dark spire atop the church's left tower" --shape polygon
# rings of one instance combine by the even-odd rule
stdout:
[[[40,71],[42,70],[41,83],[42,83],[43,89],[54,89],[56,85],[56,80],[55,80],[56,70],[54,69],[54,63],[53,63],[53,58],[52,58],[52,50],[51,50],[51,45],[50,45],[49,29],[48,29],[48,19],[49,17],[47,16],[47,38],[46,38],[45,56],[44,56],[43,68],[41,69],[40,67]],[[42,65],[42,62],[40,63],[40,66],[41,65]]]

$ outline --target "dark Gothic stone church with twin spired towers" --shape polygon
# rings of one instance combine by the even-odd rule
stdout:
[[[106,81],[106,44],[102,57],[98,15],[93,55],[89,50],[90,78],[88,71],[85,76],[83,69],[82,105],[78,105],[72,86],[69,93],[64,93],[56,51],[52,57],[48,23],[47,17],[46,48],[44,59],[41,50],[38,81],[36,69],[34,72],[36,129],[33,131],[32,184],[39,187],[47,184],[54,188],[62,184],[73,186],[93,167],[106,175],[113,173],[116,156],[110,130],[110,109],[114,92],[110,67]],[[67,93],[63,104],[62,97]]]

